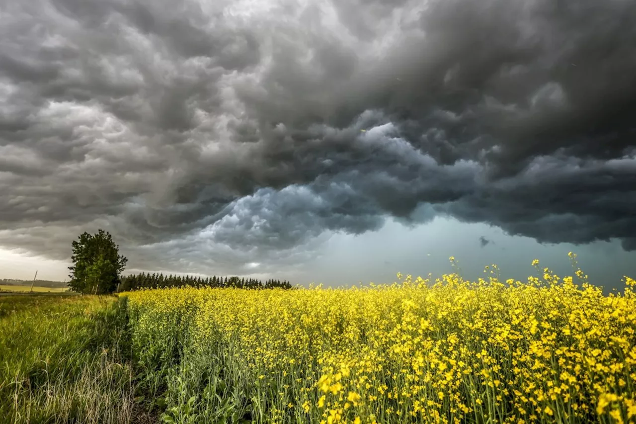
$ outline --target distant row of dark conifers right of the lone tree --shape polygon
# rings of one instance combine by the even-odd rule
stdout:
[[[239,277],[192,277],[192,276],[165,276],[163,274],[132,274],[121,278],[119,292],[130,292],[141,288],[167,288],[167,287],[232,287],[232,288],[275,288],[280,287],[290,289],[289,281],[280,281],[279,279],[268,279],[263,281],[255,278],[239,278]]]

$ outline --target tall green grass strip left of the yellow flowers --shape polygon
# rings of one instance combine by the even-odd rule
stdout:
[[[134,376],[125,302],[0,297],[1,423],[129,423]]]

